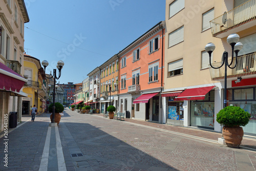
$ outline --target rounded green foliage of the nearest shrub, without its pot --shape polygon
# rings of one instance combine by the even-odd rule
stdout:
[[[217,114],[217,122],[225,126],[245,126],[249,122],[250,114],[238,106],[226,106]]]

